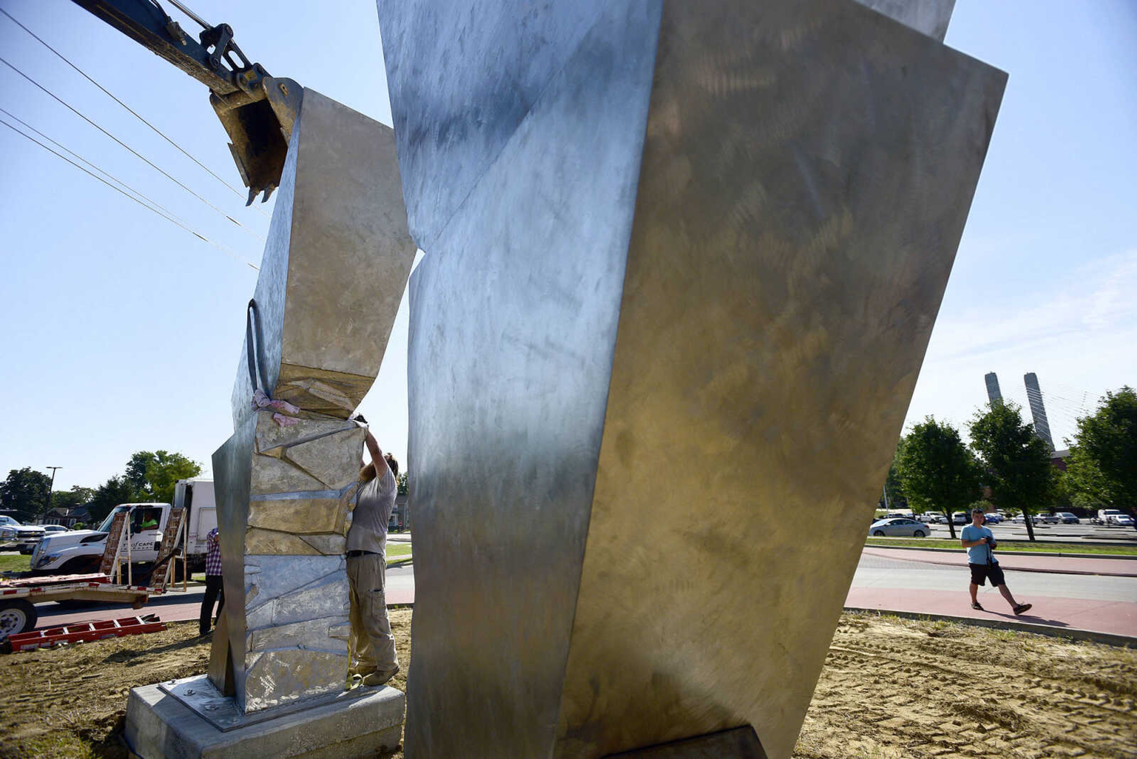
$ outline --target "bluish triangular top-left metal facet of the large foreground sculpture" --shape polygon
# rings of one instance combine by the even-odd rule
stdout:
[[[601,0],[377,0],[410,233],[442,228],[498,159]]]

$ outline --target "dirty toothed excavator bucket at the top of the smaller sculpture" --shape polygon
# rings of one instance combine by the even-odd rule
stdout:
[[[264,77],[250,94],[238,91],[209,96],[209,105],[229,133],[229,149],[236,170],[249,188],[251,205],[258,192],[262,203],[280,184],[292,124],[300,110],[304,89],[290,79]]]

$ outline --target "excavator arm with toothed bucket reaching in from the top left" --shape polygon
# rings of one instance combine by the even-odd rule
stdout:
[[[229,24],[211,26],[179,0],[169,0],[204,31],[194,40],[157,0],[73,0],[148,50],[209,88],[213,106],[231,140],[229,149],[252,203],[267,200],[280,184],[302,88],[249,63]]]

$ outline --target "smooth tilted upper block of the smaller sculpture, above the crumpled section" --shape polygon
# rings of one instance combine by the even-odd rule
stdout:
[[[379,373],[414,256],[395,133],[305,90],[254,295],[266,391],[347,418]],[[251,413],[246,355],[234,426]]]

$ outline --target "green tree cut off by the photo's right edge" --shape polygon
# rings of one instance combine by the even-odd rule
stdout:
[[[1067,486],[1112,509],[1137,509],[1137,391],[1106,393],[1097,411],[1078,420],[1076,440]]]

